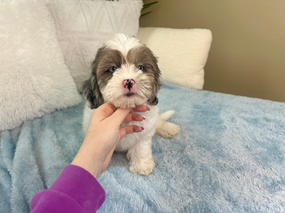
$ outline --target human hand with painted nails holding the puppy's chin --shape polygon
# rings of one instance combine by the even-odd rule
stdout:
[[[125,122],[143,121],[145,118],[131,112],[146,112],[145,105],[132,109],[115,108],[104,103],[92,113],[83,143],[73,159],[73,165],[90,172],[96,179],[107,168],[116,145],[127,134],[142,132],[143,127],[128,125],[120,128]]]

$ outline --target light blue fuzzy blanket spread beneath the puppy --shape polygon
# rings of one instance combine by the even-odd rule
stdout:
[[[165,84],[161,112],[176,110],[173,139],[153,137],[154,172],[128,170],[115,153],[100,176],[98,212],[285,212],[285,103]],[[29,212],[83,141],[84,103],[0,135],[0,212]],[[72,187],[72,186],[71,186]]]

